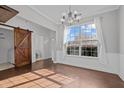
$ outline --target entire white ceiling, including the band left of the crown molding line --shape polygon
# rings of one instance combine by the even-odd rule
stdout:
[[[19,11],[17,16],[39,24],[53,31],[58,30],[63,12],[68,12],[69,5],[9,5]],[[82,13],[82,18],[98,15],[119,8],[119,5],[71,5],[72,10]]]

